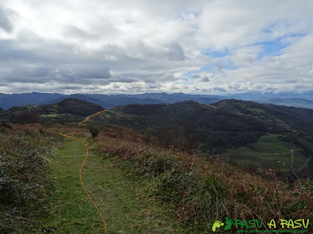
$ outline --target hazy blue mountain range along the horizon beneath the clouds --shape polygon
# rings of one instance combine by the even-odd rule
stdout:
[[[23,94],[2,94],[0,93],[0,107],[4,110],[12,106],[25,105],[45,105],[59,102],[65,98],[76,98],[101,105],[104,109],[111,109],[118,105],[128,105],[133,103],[139,104],[158,104],[158,103],[175,103],[178,101],[194,100],[202,104],[212,104],[223,99],[242,99],[252,100],[259,103],[272,103],[276,105],[288,105],[302,108],[313,109],[313,91],[299,93],[296,91],[290,92],[275,92],[275,91],[249,91],[235,94],[219,95],[193,95],[183,93],[144,93],[144,94],[59,94],[59,93],[23,93]],[[278,98],[278,99],[277,99]],[[296,99],[295,99],[296,98]],[[281,100],[283,99],[283,100]]]

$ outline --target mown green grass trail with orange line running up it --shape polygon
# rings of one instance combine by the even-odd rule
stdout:
[[[53,196],[46,199],[50,215],[41,221],[42,230],[62,234],[104,234],[103,220],[79,178],[86,157],[85,146],[67,137],[59,152],[51,166]],[[100,156],[89,152],[81,175],[86,190],[106,221],[107,234],[184,233],[171,221],[173,218],[168,211],[141,199],[134,182]]]

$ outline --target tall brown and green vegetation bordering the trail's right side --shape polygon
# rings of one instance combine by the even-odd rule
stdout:
[[[265,222],[313,218],[308,181],[290,186],[278,179],[274,169],[247,173],[218,156],[191,156],[178,149],[160,148],[155,139],[142,145],[132,141],[131,130],[123,138],[117,138],[115,131],[106,128],[93,142],[93,149],[111,160],[112,166],[141,181],[142,195],[168,204],[177,220],[188,226],[208,229],[211,222],[225,216]]]

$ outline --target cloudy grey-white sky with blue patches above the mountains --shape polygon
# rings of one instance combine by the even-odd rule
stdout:
[[[0,1],[0,93],[304,89],[312,0]]]

